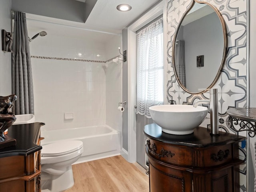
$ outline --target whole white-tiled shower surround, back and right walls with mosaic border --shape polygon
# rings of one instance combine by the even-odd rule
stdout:
[[[30,42],[35,116],[44,130],[100,124],[122,130],[122,64],[111,62],[120,46],[118,35],[103,43],[48,33]]]

